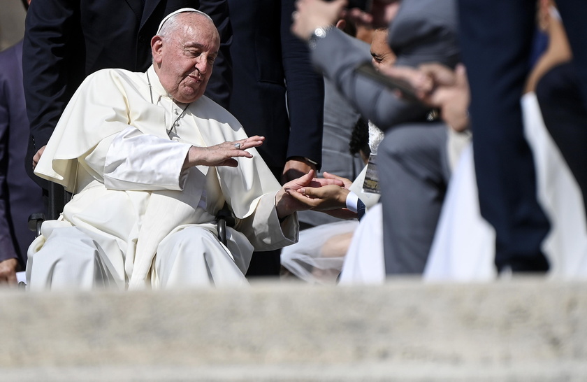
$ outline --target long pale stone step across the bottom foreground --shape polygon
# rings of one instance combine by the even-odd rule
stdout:
[[[1,381],[587,381],[587,283],[1,290]]]

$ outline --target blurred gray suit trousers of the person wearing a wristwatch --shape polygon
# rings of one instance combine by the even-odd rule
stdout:
[[[447,125],[393,127],[377,153],[386,274],[421,274],[450,176]]]

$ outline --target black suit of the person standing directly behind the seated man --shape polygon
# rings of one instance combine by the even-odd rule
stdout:
[[[31,139],[25,163],[47,144],[67,102],[82,80],[104,68],[145,71],[159,22],[179,8],[201,8],[220,27],[221,55],[206,95],[228,106],[231,29],[226,0],[42,0],[33,1],[25,22],[23,70]],[[223,57],[223,52],[226,55]],[[224,76],[224,78],[220,78]],[[212,94],[211,94],[212,92]]]

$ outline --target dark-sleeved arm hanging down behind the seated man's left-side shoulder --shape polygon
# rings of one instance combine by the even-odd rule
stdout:
[[[78,50],[83,46],[82,33],[74,8],[71,1],[43,0],[33,1],[27,12],[22,69],[34,142],[30,155],[47,144],[84,78],[84,55]]]

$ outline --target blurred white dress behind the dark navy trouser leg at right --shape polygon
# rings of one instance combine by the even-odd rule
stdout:
[[[581,192],[542,120],[534,93],[521,99],[524,131],[536,167],[537,196],[551,222],[542,249],[549,277],[587,278],[587,227]],[[479,215],[472,150],[454,173],[424,271],[426,280],[495,278],[495,232]]]

